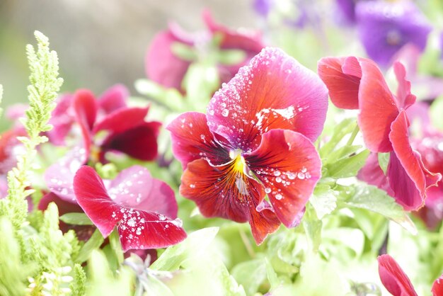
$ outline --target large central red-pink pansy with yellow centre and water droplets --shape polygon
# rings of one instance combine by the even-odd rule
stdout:
[[[281,222],[296,226],[321,176],[312,141],[327,108],[316,74],[265,48],[214,94],[206,115],[183,113],[168,125],[185,169],[180,193],[205,217],[249,222],[258,244]]]

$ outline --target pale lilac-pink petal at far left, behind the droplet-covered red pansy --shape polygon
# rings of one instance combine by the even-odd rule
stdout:
[[[57,194],[62,200],[76,203],[72,183],[76,171],[86,164],[87,157],[84,148],[74,147],[62,159],[47,168],[44,178],[51,192]]]

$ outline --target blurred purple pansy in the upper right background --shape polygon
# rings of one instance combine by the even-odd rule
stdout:
[[[355,15],[367,55],[383,66],[408,43],[424,50],[432,30],[413,1],[359,1]]]

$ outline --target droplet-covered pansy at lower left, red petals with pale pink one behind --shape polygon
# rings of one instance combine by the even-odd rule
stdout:
[[[173,190],[142,166],[125,169],[108,186],[90,166],[82,166],[74,177],[74,193],[103,237],[117,226],[123,251],[164,248],[186,237],[176,219]]]

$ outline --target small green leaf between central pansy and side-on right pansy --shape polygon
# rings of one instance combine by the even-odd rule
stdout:
[[[364,166],[367,156],[369,156],[369,150],[365,149],[359,154],[326,165],[328,177],[338,179],[356,176],[357,172]]]

